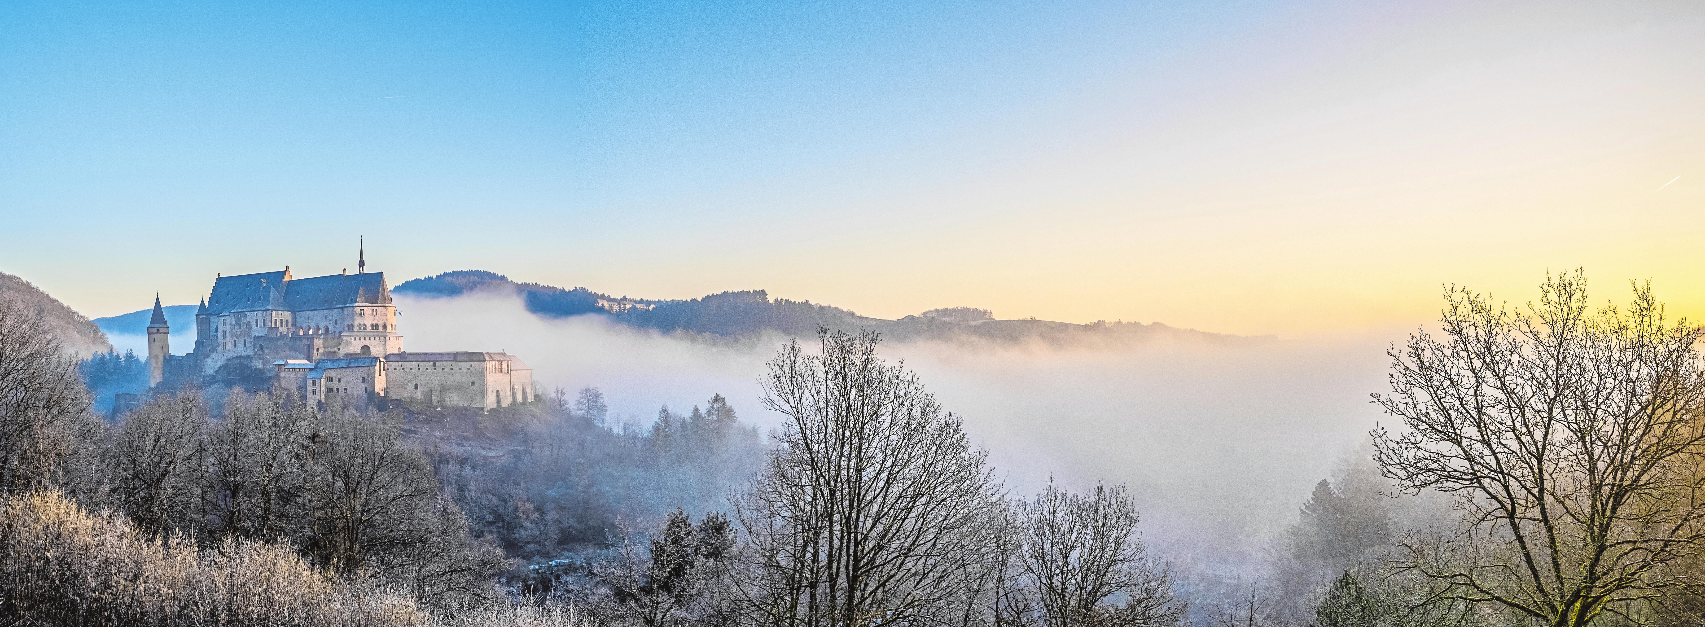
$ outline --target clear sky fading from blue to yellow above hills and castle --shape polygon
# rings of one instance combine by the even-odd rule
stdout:
[[[1702,317],[1702,148],[1696,2],[0,3],[0,271],[90,317],[363,235],[878,317],[1357,332],[1577,264]]]

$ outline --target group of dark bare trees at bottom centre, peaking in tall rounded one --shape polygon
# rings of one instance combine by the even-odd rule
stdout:
[[[1118,486],[1013,498],[876,336],[820,332],[760,380],[784,416],[731,513],[677,511],[530,591],[612,625],[1170,625],[1185,613]]]

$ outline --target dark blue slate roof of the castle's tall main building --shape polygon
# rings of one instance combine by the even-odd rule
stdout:
[[[293,279],[290,271],[220,276],[206,314],[286,310],[307,312],[355,303],[390,305],[385,273],[326,274]]]

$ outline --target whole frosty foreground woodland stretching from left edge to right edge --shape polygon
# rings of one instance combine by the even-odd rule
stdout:
[[[951,312],[946,315],[977,315]],[[1451,288],[1393,346],[1391,419],[1257,562],[1165,554],[1124,486],[1016,494],[876,332],[781,348],[745,412],[610,424],[595,388],[498,411],[159,397],[107,423],[0,298],[0,624],[1693,625],[1705,329]],[[1236,508],[1228,503],[1226,508]]]

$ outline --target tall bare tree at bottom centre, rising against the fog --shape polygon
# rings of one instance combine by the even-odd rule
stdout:
[[[868,625],[965,620],[999,506],[985,453],[878,336],[820,331],[769,361],[762,402],[788,417],[737,515],[757,561],[755,620]]]

